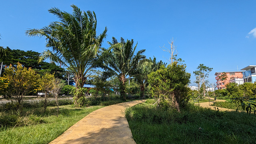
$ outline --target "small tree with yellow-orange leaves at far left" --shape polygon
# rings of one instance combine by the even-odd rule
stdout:
[[[18,63],[17,68],[14,68],[12,65],[6,68],[3,78],[8,80],[8,84],[6,83],[6,94],[14,96],[21,112],[24,96],[35,88],[36,81],[40,76],[31,68],[27,69]]]

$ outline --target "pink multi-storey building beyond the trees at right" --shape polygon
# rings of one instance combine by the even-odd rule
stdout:
[[[215,80],[217,80],[216,84],[217,84],[217,88],[219,89],[223,89],[226,88],[226,84],[231,83],[231,82],[236,82],[238,84],[242,84],[244,82],[243,80],[243,71],[239,71],[239,72],[226,72],[227,74],[227,79],[226,80],[221,80],[221,78],[219,78],[220,75],[222,75],[223,72],[216,72],[214,75]]]

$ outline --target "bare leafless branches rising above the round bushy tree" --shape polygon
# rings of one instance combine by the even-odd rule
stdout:
[[[170,63],[176,60],[176,56],[178,54],[178,51],[176,50],[177,46],[174,46],[174,42],[175,40],[173,40],[173,38],[171,39],[170,42],[168,41],[168,43],[170,44],[170,49],[166,48],[165,46],[160,47],[163,51],[170,53],[169,59],[166,58],[166,60],[168,60]],[[165,57],[163,56],[163,58]]]

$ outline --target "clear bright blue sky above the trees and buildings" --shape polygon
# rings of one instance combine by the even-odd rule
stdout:
[[[48,9],[72,12],[71,4],[96,13],[97,32],[108,28],[107,41],[134,39],[137,49],[146,49],[147,58],[167,62],[168,40],[176,39],[178,57],[191,73],[199,64],[214,73],[236,71],[256,64],[256,1],[254,0],[1,0],[0,46],[11,49],[45,49],[44,38],[27,37],[28,28],[42,28],[57,18]]]

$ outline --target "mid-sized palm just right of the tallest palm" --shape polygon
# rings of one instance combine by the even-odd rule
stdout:
[[[145,60],[146,56],[142,55],[145,50],[139,50],[135,53],[137,44],[133,47],[134,41],[124,40],[121,37],[120,42],[116,38],[112,38],[110,44],[110,51],[108,56],[108,63],[106,66],[107,74],[109,76],[116,76],[120,81],[120,95],[126,99],[125,82],[128,78],[138,75],[139,61]]]

